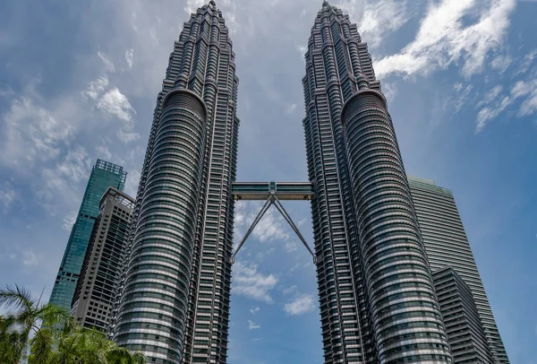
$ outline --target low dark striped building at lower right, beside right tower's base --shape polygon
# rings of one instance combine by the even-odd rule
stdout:
[[[432,277],[455,363],[493,363],[470,288],[450,266]]]

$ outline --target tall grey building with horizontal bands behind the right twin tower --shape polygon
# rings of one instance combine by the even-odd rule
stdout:
[[[451,266],[465,281],[472,290],[494,362],[508,363],[453,194],[430,179],[408,177],[408,181],[430,268],[436,271]]]

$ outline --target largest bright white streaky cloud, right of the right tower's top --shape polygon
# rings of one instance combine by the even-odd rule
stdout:
[[[479,8],[473,0],[443,0],[430,7],[412,43],[375,65],[379,78],[387,74],[428,74],[463,59],[466,77],[482,71],[491,51],[502,47],[515,0],[487,0]],[[474,14],[478,16],[474,16]],[[469,25],[465,22],[477,19]]]

